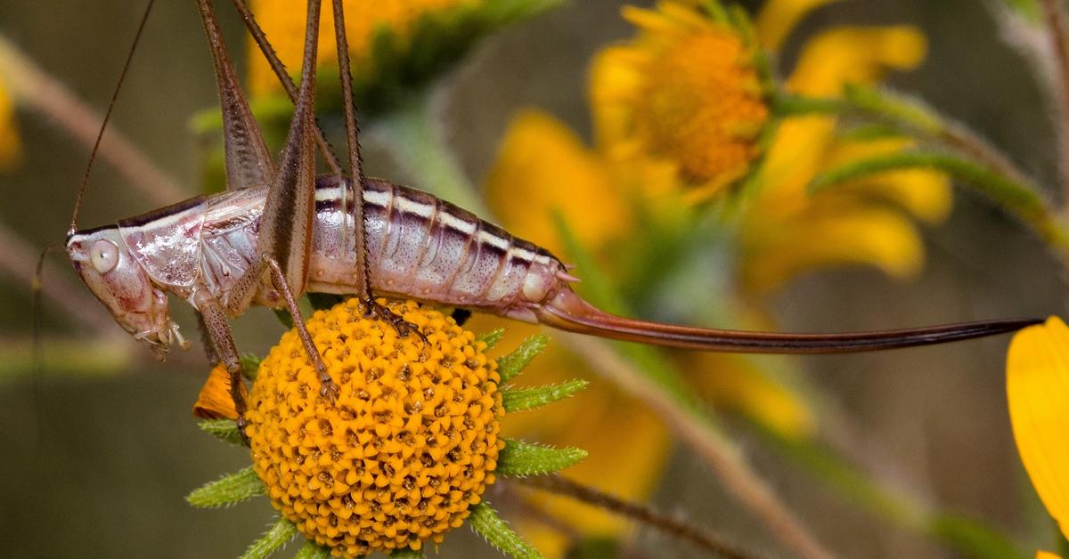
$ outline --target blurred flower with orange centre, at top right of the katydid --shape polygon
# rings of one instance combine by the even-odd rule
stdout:
[[[600,146],[615,162],[667,166],[692,200],[719,192],[749,171],[769,121],[754,46],[682,2],[623,15],[639,36],[603,50],[591,71]]]

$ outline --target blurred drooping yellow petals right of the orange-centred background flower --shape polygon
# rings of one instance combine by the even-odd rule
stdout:
[[[762,36],[760,26],[757,31]],[[924,52],[924,36],[909,27],[832,30],[806,45],[786,89],[837,96],[848,84],[874,83],[887,69],[915,67]],[[920,268],[923,243],[911,217],[938,222],[947,215],[947,178],[896,171],[811,193],[809,183],[824,170],[911,146],[903,139],[845,139],[836,126],[834,117],[788,118],[772,140],[740,233],[739,283],[747,293],[769,293],[831,265],[868,264],[893,277]]]

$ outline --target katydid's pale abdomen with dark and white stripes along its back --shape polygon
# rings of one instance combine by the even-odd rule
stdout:
[[[533,321],[525,310],[570,278],[545,249],[427,192],[371,178],[363,202],[376,292]],[[360,281],[353,209],[351,186],[321,176],[308,291],[352,293]]]

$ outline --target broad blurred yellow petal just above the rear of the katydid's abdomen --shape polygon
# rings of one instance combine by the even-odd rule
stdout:
[[[485,192],[509,231],[558,252],[556,213],[594,249],[630,227],[624,197],[605,162],[568,127],[537,110],[513,119]]]

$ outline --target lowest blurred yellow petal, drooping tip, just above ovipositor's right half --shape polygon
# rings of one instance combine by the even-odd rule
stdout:
[[[897,278],[915,275],[924,257],[916,229],[882,207],[827,207],[778,223],[747,224],[741,283],[766,293],[812,268],[868,264]]]

